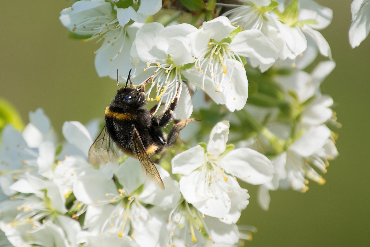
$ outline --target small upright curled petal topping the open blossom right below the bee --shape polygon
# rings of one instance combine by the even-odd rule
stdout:
[[[207,152],[217,157],[222,154],[226,149],[226,142],[229,139],[229,121],[218,122],[209,135],[209,142],[207,146]]]

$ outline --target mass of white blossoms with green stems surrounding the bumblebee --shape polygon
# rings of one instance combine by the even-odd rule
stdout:
[[[99,121],[65,122],[59,142],[37,109],[22,132],[2,131],[0,246],[240,246],[254,230],[237,224],[245,183],[259,186],[266,210],[271,190],[324,184],[340,127],[320,91],[335,67],[319,32],[332,10],[312,0],[181,3],[80,0],[60,16],[70,37],[101,43],[99,76],[129,79],[133,69],[153,112],[165,112],[181,85],[174,119],[203,119],[153,157],[166,189],[122,153],[89,163]]]

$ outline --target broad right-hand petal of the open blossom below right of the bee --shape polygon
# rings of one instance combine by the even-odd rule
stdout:
[[[249,184],[265,184],[273,177],[271,161],[265,155],[250,149],[237,148],[223,158],[226,172]]]

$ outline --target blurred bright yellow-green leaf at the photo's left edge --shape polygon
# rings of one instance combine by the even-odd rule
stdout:
[[[8,123],[15,129],[24,129],[23,121],[17,110],[8,101],[0,98],[0,132]]]

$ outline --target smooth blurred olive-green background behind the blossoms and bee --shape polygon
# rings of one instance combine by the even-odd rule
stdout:
[[[249,186],[250,204],[240,220],[258,233],[246,246],[369,246],[370,244],[370,37],[351,49],[348,30],[351,0],[317,0],[334,11],[322,30],[337,66],[323,83],[333,97],[339,130],[339,157],[330,163],[325,185],[310,182],[309,191],[271,192],[270,210],[261,210],[256,188]],[[82,123],[102,118],[114,97],[115,82],[98,78],[91,51],[67,38],[58,20],[71,1],[3,1],[0,23],[0,97],[19,110],[41,107],[61,133],[64,121]],[[127,58],[129,59],[129,58]]]

